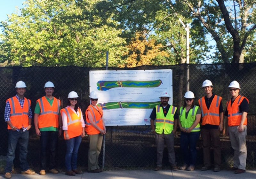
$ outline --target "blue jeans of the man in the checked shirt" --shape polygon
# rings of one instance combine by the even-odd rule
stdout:
[[[29,169],[28,161],[27,161],[27,153],[28,153],[28,139],[29,133],[28,131],[23,132],[22,129],[20,131],[8,130],[8,150],[6,155],[6,167],[5,172],[12,171],[13,160],[15,158],[15,149],[17,143],[20,144],[20,169],[21,171],[26,171]]]

